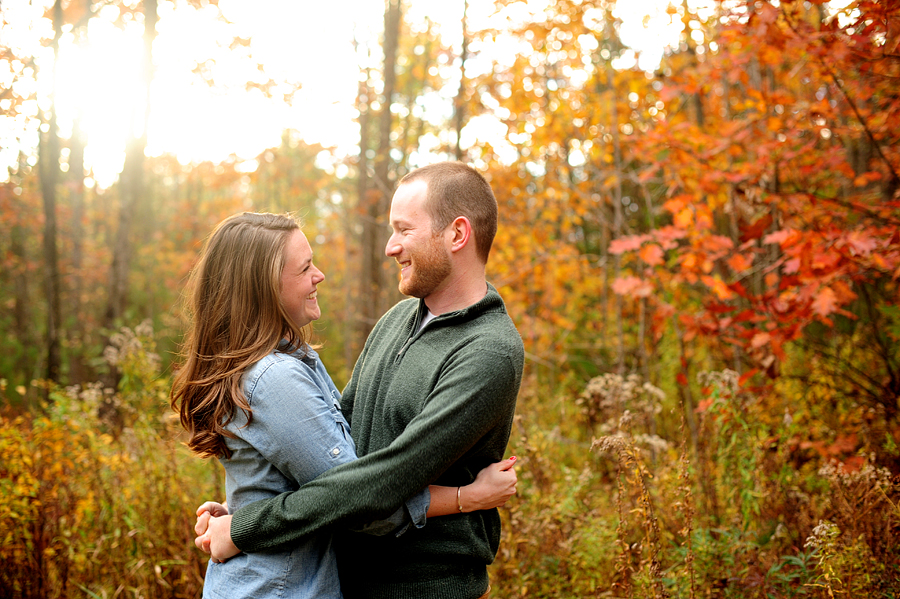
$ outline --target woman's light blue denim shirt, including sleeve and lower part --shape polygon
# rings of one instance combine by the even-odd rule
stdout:
[[[307,349],[306,355],[270,353],[244,373],[243,390],[252,421],[248,426],[238,410],[226,427],[238,438],[225,438],[232,453],[221,460],[229,512],[295,491],[329,468],[356,459],[340,393],[314,350]],[[410,523],[421,527],[429,500],[426,489],[386,521],[364,530],[399,535]],[[241,553],[222,564],[210,561],[203,597],[340,599],[331,535],[305,537],[289,550]]]

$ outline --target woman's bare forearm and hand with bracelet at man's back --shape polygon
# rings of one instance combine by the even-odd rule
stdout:
[[[516,494],[516,456],[491,464],[464,487],[431,485],[431,503],[426,514],[429,518],[452,514],[489,510],[500,507]]]

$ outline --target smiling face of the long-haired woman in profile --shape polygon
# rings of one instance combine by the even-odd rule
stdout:
[[[312,248],[306,236],[295,230],[284,248],[281,271],[281,303],[298,327],[308,325],[322,315],[316,299],[316,286],[325,280],[312,262]]]

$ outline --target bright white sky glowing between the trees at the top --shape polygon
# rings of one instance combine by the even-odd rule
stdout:
[[[462,0],[409,0],[407,18],[415,22],[427,16],[441,24],[446,39],[458,43],[462,5]],[[617,16],[624,21],[623,41],[641,48],[643,68],[654,68],[664,47],[678,40],[681,23],[678,18],[672,22],[665,13],[667,5],[666,0],[618,3]],[[41,19],[42,9],[28,0],[3,0],[0,7],[4,20],[13,25],[5,29],[3,43],[23,54],[43,53],[39,64],[49,71],[52,55],[34,47],[37,31],[50,37],[49,23]],[[214,7],[194,10],[183,0],[160,2],[147,153],[174,153],[184,164],[217,162],[232,154],[252,159],[263,149],[277,146],[287,128],[298,130],[307,142],[353,152],[359,139],[352,105],[360,62],[353,39],[377,43],[383,4],[372,0],[220,0],[219,7],[232,25],[219,21]],[[492,7],[491,0],[470,0],[470,28],[483,24]],[[61,43],[57,101],[61,134],[69,135],[76,108],[81,107],[88,135],[86,161],[103,187],[112,184],[121,171],[127,127],[135,122],[132,111],[140,109],[142,101],[137,57],[143,25],[131,22],[117,27],[112,24],[117,16],[118,8],[110,5],[91,19],[89,46],[76,46],[70,29]],[[234,35],[252,38],[253,58],[265,65],[267,76],[302,84],[291,106],[244,89],[244,83],[258,78],[259,73],[255,62],[240,60],[221,48]],[[206,59],[215,61],[208,63],[215,87],[198,81],[192,73],[197,62]],[[0,88],[8,85],[5,65],[0,61]],[[50,77],[43,75],[46,72],[40,79],[40,95],[46,97]],[[451,85],[448,98],[455,93],[455,83]],[[7,108],[0,101],[2,112]],[[37,108],[30,105],[24,111],[36,115]],[[436,110],[449,113],[449,100]],[[141,110],[135,113],[140,115]],[[24,129],[23,118],[0,118],[0,166],[15,162],[16,137],[23,146],[34,147],[36,135],[36,131]],[[474,136],[467,138],[470,143],[477,142]],[[247,164],[247,168],[253,166]],[[5,178],[5,173],[0,174],[0,180]]]

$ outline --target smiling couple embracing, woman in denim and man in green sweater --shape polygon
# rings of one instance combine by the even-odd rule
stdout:
[[[296,221],[235,215],[207,240],[172,390],[189,446],[226,472],[227,507],[198,509],[204,597],[488,595],[524,360],[485,277],[497,202],[471,167],[433,164],[401,180],[390,225],[411,299],[343,394],[309,339],[325,276]]]

